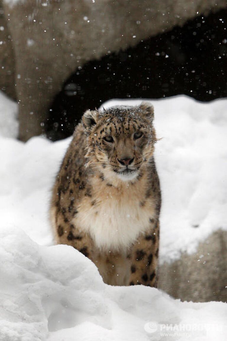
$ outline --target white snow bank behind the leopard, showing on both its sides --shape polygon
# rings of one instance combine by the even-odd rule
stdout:
[[[104,107],[140,102],[109,101]],[[184,251],[194,252],[213,231],[227,229],[227,100],[205,104],[179,96],[151,102],[157,136],[162,138],[155,157],[162,189],[160,260],[164,262]],[[0,106],[8,110],[8,104]],[[0,136],[3,226],[19,226],[39,244],[53,244],[50,192],[69,143],[70,138],[52,143],[33,137],[24,144]]]

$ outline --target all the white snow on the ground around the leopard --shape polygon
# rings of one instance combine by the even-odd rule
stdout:
[[[161,180],[160,260],[227,229],[227,100],[152,100]],[[110,101],[115,104],[140,101]],[[227,304],[187,303],[149,287],[111,287],[69,246],[51,246],[48,205],[70,138],[15,139],[16,106],[0,95],[0,340],[227,339]]]

